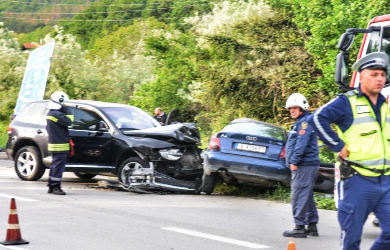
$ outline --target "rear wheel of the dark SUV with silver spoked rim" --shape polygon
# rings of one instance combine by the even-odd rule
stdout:
[[[15,155],[14,167],[22,180],[39,180],[45,173],[41,152],[36,146],[24,146]]]

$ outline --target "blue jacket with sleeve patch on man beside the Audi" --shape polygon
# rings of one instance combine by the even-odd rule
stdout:
[[[309,111],[304,111],[293,124],[286,143],[286,164],[319,166],[317,136],[307,123]]]

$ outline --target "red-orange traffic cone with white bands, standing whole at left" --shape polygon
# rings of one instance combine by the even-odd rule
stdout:
[[[19,228],[18,212],[16,211],[15,199],[11,199],[11,206],[9,208],[7,236],[5,241],[0,241],[3,245],[21,245],[28,244],[28,241],[22,239]]]

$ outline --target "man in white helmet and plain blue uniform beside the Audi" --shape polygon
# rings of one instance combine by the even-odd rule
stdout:
[[[284,231],[283,236],[307,238],[307,235],[318,236],[318,213],[313,197],[314,183],[319,171],[317,136],[307,118],[309,104],[300,93],[287,99],[285,108],[291,118],[296,120],[286,145],[286,164],[291,169],[291,205],[295,228]],[[305,229],[305,225],[308,225]]]

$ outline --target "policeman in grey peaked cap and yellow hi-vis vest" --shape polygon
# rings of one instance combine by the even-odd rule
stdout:
[[[366,55],[353,64],[357,89],[341,94],[309,118],[317,134],[342,162],[337,184],[342,249],[359,249],[367,216],[374,211],[382,229],[371,249],[390,249],[390,112],[380,93],[388,56]],[[337,125],[337,134],[330,123]]]

